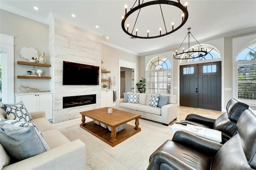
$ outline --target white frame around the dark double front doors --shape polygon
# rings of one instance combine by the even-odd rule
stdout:
[[[180,63],[181,61],[178,61],[178,105],[180,105],[180,65],[191,65],[191,64],[198,64],[198,63],[211,63],[211,62],[216,62],[216,61],[221,61],[221,111],[226,112],[226,106],[224,105],[224,58],[218,58],[218,59],[210,59],[210,60],[202,60],[202,61],[195,61],[195,62],[188,62],[188,63]]]

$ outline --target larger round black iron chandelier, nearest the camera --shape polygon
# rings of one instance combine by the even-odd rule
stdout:
[[[136,2],[138,1],[138,6],[135,6],[134,5],[136,4]],[[182,5],[180,3],[180,0],[178,0],[178,2],[174,2],[174,1],[170,1],[170,0],[154,0],[154,1],[149,1],[149,2],[145,2],[143,3],[144,0],[142,0],[142,3],[140,3],[140,0],[136,0],[134,5],[132,6],[132,8],[130,8],[130,11],[127,12],[127,5],[124,6],[125,8],[125,15],[122,16],[122,30],[128,34],[129,36],[132,36],[134,38],[142,38],[142,39],[150,39],[150,38],[158,38],[158,37],[162,37],[162,36],[166,36],[168,34],[171,34],[175,31],[177,31],[178,29],[180,29],[185,23],[186,21],[188,20],[188,10],[187,10],[187,5],[188,5],[188,2],[186,2],[184,5]],[[154,36],[150,36],[150,30],[138,30],[136,28],[136,23],[137,23],[137,20],[139,18],[139,14],[140,14],[140,11],[142,8],[144,7],[147,7],[147,6],[152,6],[152,5],[157,5],[159,4],[160,6],[160,11],[161,11],[161,14],[162,14],[162,19],[163,20],[163,23],[164,23],[164,29],[162,28],[159,28],[159,35],[154,35]],[[166,28],[166,22],[164,20],[164,15],[163,15],[163,11],[162,11],[162,5],[170,5],[170,6],[175,6],[177,8],[179,8],[183,13],[181,15],[181,24],[178,25],[177,27],[174,26],[174,22],[170,21],[168,22],[168,24],[171,24],[172,27],[170,30],[168,30]],[[125,26],[125,21],[127,20],[127,18],[134,12],[136,12],[137,10],[138,11],[138,15],[137,15],[137,18],[136,20],[134,21],[134,25],[132,27],[132,29],[129,30],[129,26],[130,24],[127,24]],[[158,29],[158,28],[154,28],[154,29]],[[134,30],[135,29],[135,30]],[[130,31],[130,32],[129,32]]]

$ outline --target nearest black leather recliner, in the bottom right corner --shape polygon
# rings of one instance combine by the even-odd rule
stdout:
[[[256,113],[245,110],[237,134],[218,144],[177,131],[151,156],[147,170],[251,170],[256,168]]]

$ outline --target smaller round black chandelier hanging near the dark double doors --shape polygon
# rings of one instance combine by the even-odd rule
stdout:
[[[184,38],[183,42],[185,41],[185,39],[188,36],[188,49],[187,51],[184,52],[184,48],[182,48],[182,52],[178,53],[180,47],[182,46],[183,42],[180,44],[180,47],[176,50],[176,53],[173,52],[173,58],[174,59],[195,59],[198,57],[204,57],[206,56],[209,52],[207,52],[207,48],[204,49],[202,47],[202,45],[196,40],[196,38],[194,38],[194,36],[191,34],[190,32],[191,28],[188,28],[188,34],[186,35],[186,37]],[[196,42],[198,43],[198,50],[194,50],[194,48],[192,48],[192,50],[190,49],[190,35],[196,40]],[[200,50],[201,47],[201,50]],[[185,55],[185,57],[182,57],[180,55]],[[188,55],[188,57],[187,57]],[[196,55],[196,56],[195,56]]]

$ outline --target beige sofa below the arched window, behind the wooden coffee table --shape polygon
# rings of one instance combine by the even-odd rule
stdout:
[[[176,103],[176,95],[169,95],[168,103],[160,108],[150,106],[150,97],[156,94],[137,94],[139,95],[138,103],[126,103],[124,99],[118,99],[116,100],[116,109],[138,113],[141,118],[160,122],[166,126],[177,119],[178,104]]]

